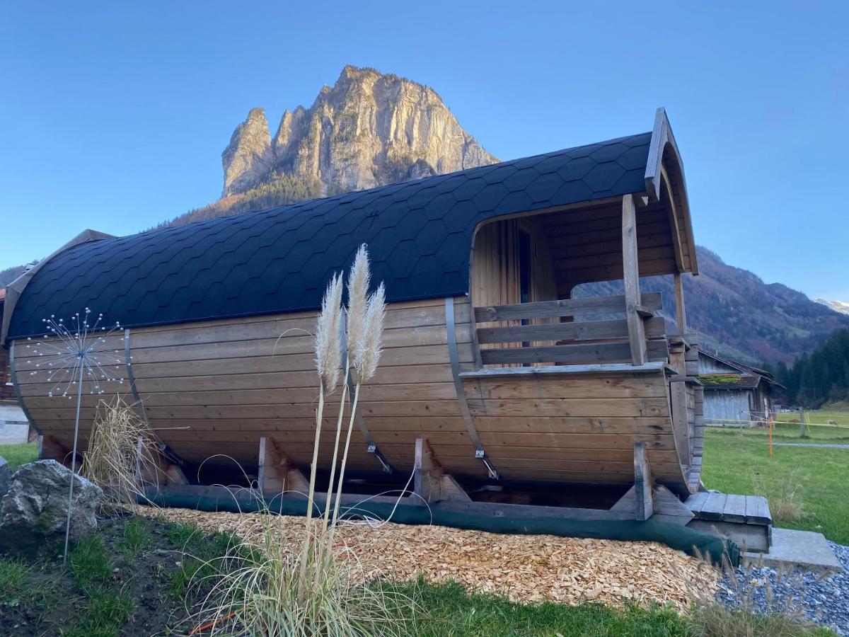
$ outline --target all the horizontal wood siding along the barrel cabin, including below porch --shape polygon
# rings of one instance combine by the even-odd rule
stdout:
[[[454,304],[460,369],[476,369],[469,300]],[[189,462],[238,462],[256,471],[259,439],[270,437],[306,468],[318,395],[314,323],[314,313],[301,313],[131,330],[133,375],[150,425]],[[386,324],[379,371],[360,403],[374,442],[399,471],[412,470],[415,439],[424,437],[446,471],[486,476],[453,383],[444,299],[393,304]],[[24,370],[20,391],[38,428],[70,447],[73,401],[47,397],[45,384],[26,375],[31,358],[16,357]],[[633,481],[633,444],[644,442],[655,476],[671,486],[682,481],[661,372],[467,378],[463,387],[481,443],[505,478],[625,484]],[[132,402],[128,383],[121,392]],[[324,467],[338,397],[337,390],[325,408]],[[83,399],[83,449],[97,403]],[[688,407],[696,408],[693,400]],[[358,427],[350,466],[380,471]]]

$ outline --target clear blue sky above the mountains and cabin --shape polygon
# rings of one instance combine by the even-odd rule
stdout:
[[[849,300],[849,3],[320,4],[4,2],[0,268],[215,200],[251,107],[276,127],[353,64],[436,88],[503,159],[664,105],[696,240]]]

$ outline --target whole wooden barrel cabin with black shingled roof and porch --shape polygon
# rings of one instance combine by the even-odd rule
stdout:
[[[627,487],[636,448],[658,484],[697,490],[681,275],[698,265],[662,109],[652,131],[599,144],[132,236],[84,232],[8,286],[3,343],[42,455],[67,458],[75,403],[31,374],[28,339],[90,307],[121,322],[120,347],[104,347],[124,382],[107,395],[137,405],[169,462],[253,475],[273,454],[308,471],[311,332],[329,277],[363,243],[388,307],[349,471],[408,476],[422,440],[459,484]],[[656,275],[675,281],[666,321],[661,295],[640,289]],[[621,294],[573,295],[599,281]],[[82,449],[100,398],[82,398]],[[332,427],[332,403],[325,414]]]

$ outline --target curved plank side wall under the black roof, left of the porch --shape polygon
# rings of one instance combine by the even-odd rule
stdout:
[[[456,300],[458,357],[474,367],[468,299]],[[131,330],[132,368],[144,412],[176,454],[201,462],[226,454],[256,467],[259,438],[272,437],[295,465],[312,458],[318,377],[312,353],[316,313],[241,318]],[[445,300],[395,303],[387,310],[377,375],[363,387],[360,406],[375,443],[399,469],[413,466],[416,437],[430,437],[448,471],[480,474],[453,385]],[[121,352],[122,354],[123,352]],[[21,392],[42,433],[70,447],[74,401],[47,397],[30,381],[16,352]],[[32,377],[35,380],[37,377]],[[28,382],[29,381],[29,382]],[[121,386],[132,402],[129,386]],[[329,465],[340,392],[324,411],[320,459]],[[97,397],[84,397],[82,446]],[[232,462],[225,458],[213,464]],[[359,428],[351,439],[351,470],[380,471]]]

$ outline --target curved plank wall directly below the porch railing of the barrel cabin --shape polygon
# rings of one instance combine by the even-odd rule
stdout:
[[[662,371],[464,378],[464,388],[505,478],[633,483],[633,444],[644,442],[655,477],[686,488]]]

